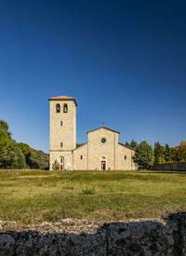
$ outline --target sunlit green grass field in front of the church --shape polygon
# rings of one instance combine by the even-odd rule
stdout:
[[[118,221],[186,210],[186,174],[153,171],[0,171],[0,220]]]

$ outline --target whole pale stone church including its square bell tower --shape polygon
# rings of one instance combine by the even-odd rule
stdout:
[[[135,151],[119,142],[119,131],[100,127],[87,131],[87,142],[76,147],[75,99],[60,96],[50,103],[49,166],[57,160],[61,170],[134,170]]]

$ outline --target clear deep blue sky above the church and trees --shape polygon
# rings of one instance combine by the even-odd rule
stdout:
[[[77,142],[186,140],[185,1],[0,1],[0,119],[48,152],[47,98],[76,99]]]

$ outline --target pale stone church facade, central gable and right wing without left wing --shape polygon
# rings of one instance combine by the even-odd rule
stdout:
[[[101,143],[101,139],[106,140]],[[106,169],[133,170],[136,165],[132,159],[134,150],[119,143],[119,134],[107,128],[99,128],[88,132],[87,143],[88,170],[100,169],[100,157],[107,159]],[[126,158],[125,158],[126,155]]]

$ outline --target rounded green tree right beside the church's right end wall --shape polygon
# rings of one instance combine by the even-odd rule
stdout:
[[[149,168],[149,166],[153,165],[154,161],[153,147],[147,141],[141,141],[136,148],[133,159],[140,168]]]

